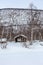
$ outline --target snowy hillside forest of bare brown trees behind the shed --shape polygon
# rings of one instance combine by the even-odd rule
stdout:
[[[0,10],[0,38],[14,40],[18,34],[28,40],[43,40],[43,10],[5,8]]]

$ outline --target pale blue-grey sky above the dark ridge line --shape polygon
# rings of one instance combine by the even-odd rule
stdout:
[[[0,8],[29,8],[30,3],[43,9],[43,0],[0,0]]]

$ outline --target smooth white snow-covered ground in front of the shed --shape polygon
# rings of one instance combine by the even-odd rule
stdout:
[[[0,65],[43,65],[43,42],[32,43],[25,48],[23,43],[8,42],[6,49],[0,48]]]

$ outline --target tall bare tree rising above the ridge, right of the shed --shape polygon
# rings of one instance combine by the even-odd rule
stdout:
[[[30,5],[30,23],[29,23],[30,24],[30,29],[31,29],[31,43],[30,44],[32,44],[32,41],[33,41],[33,33],[34,33],[34,30],[35,29],[37,30],[37,27],[38,26],[40,28],[39,18],[40,18],[40,11],[38,11],[36,9],[36,7],[33,4],[31,4]]]

